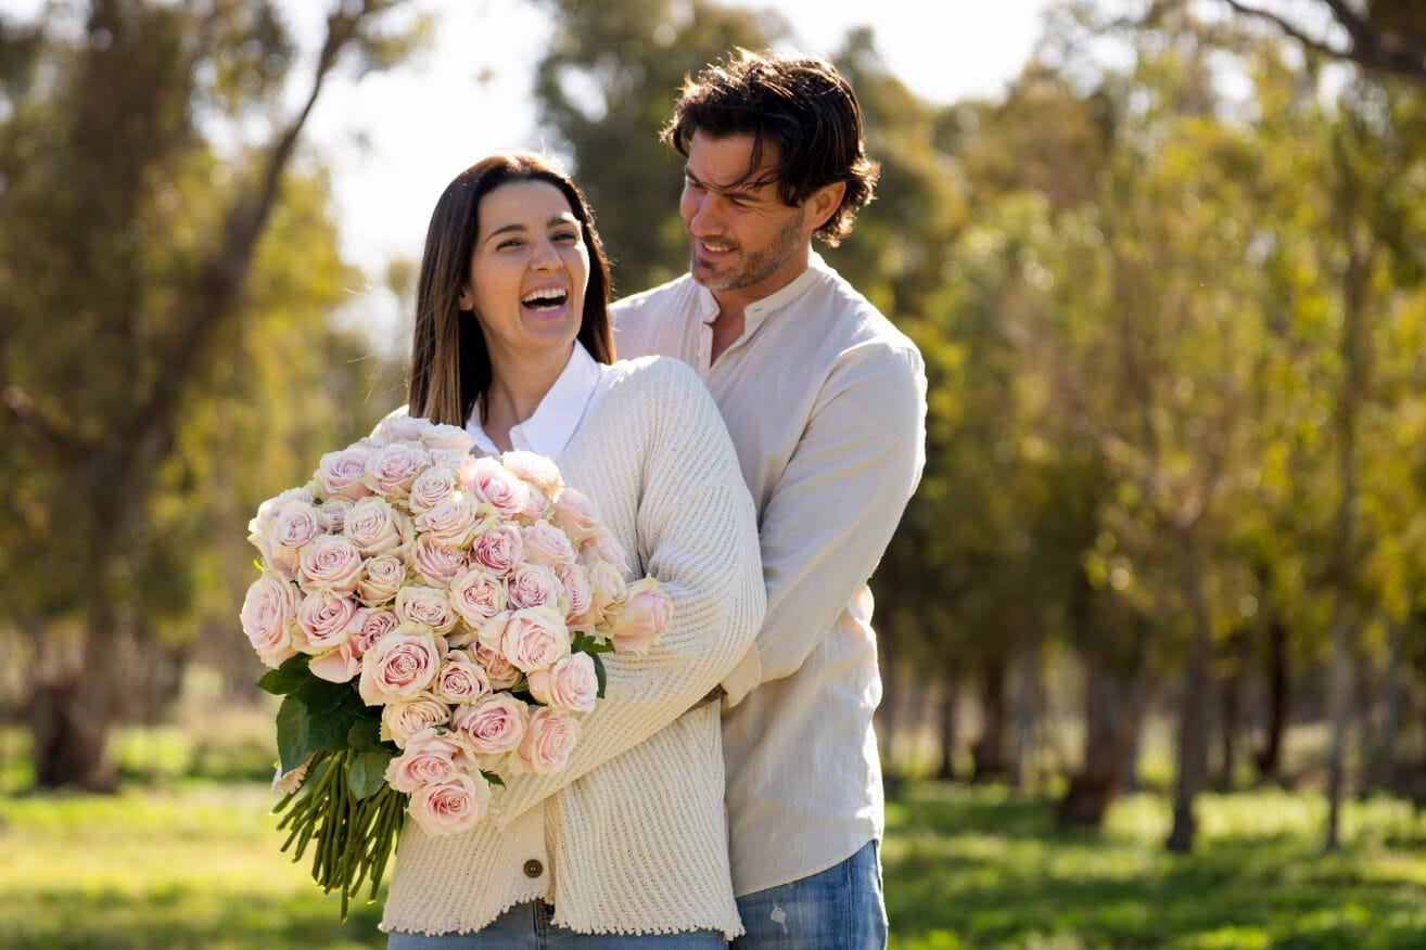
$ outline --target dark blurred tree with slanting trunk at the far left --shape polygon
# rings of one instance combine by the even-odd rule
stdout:
[[[114,648],[185,564],[155,531],[170,463],[250,316],[307,118],[348,51],[364,68],[406,53],[381,30],[398,3],[335,6],[291,115],[298,53],[267,0],[94,0],[77,36],[0,31],[0,466],[6,547],[29,557],[4,611],[53,658],[31,699],[44,786],[113,783]],[[238,142],[221,162],[214,127]]]

